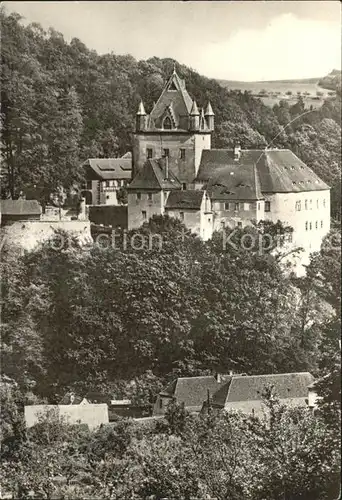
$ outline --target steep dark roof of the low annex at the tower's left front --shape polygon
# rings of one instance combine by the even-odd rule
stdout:
[[[134,177],[128,189],[180,189],[181,184],[170,171],[166,179],[166,170],[162,160],[147,160],[143,168]]]

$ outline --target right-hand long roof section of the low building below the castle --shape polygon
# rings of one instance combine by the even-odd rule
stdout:
[[[305,398],[314,381],[309,372],[279,373],[271,375],[233,375],[213,396],[218,406],[239,401],[258,401],[267,387],[272,387],[279,399]]]

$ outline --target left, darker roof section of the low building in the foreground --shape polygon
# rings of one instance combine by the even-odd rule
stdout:
[[[161,396],[174,397],[185,407],[202,407],[209,395],[212,396],[220,387],[213,375],[203,377],[180,377],[160,393]]]

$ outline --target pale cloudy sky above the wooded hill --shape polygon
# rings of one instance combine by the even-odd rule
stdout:
[[[3,2],[104,54],[170,57],[240,81],[313,78],[341,68],[339,1]]]

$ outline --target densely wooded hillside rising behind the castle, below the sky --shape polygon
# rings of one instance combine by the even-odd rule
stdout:
[[[3,197],[16,197],[32,184],[38,184],[44,196],[58,186],[67,189],[81,179],[80,164],[86,158],[119,156],[130,150],[138,104],[143,99],[150,111],[174,60],[98,55],[76,38],[67,43],[54,29],[24,27],[15,14],[1,12],[1,25]],[[303,98],[298,101],[299,91],[296,96],[290,91],[292,100],[278,98],[271,109],[258,96],[223,88],[184,65],[177,64],[177,72],[199,106],[208,99],[212,103],[213,147],[231,147],[239,141],[244,148],[267,144],[291,148],[326,182],[337,186],[339,97],[321,102],[313,96],[308,108],[312,113],[289,125],[307,104]],[[302,97],[306,91],[300,92]]]

